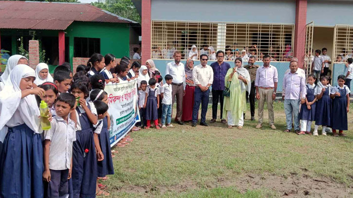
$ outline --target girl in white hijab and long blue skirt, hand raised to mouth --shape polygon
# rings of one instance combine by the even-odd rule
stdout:
[[[3,197],[43,197],[42,130],[35,95],[42,97],[45,91],[32,89],[35,78],[32,68],[17,65],[0,91],[0,133],[5,136],[0,158]]]

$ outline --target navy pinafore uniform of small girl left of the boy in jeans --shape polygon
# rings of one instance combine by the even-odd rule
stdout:
[[[146,120],[157,120],[158,119],[158,108],[157,108],[157,96],[159,94],[159,90],[157,87],[154,89],[147,88],[146,92],[149,93],[147,97],[146,104]]]

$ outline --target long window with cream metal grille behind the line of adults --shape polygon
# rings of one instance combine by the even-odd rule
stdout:
[[[294,24],[213,23],[152,20],[152,58],[172,59],[175,50],[186,59],[192,45],[230,50],[233,57],[270,54],[273,61],[292,58]]]

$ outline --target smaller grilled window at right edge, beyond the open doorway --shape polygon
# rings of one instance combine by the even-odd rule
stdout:
[[[334,28],[334,62],[347,62],[353,57],[353,26],[336,25]]]

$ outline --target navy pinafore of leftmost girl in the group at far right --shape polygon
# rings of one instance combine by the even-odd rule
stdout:
[[[315,89],[316,85],[314,86],[313,89],[310,89],[308,85],[306,85],[306,99],[308,102],[313,102],[315,99]],[[299,113],[299,118],[300,120],[309,120],[309,121],[315,121],[315,113],[316,113],[316,103],[312,104],[311,109],[308,109],[306,105],[302,105],[300,108],[300,113]]]

